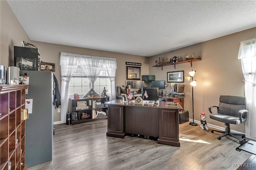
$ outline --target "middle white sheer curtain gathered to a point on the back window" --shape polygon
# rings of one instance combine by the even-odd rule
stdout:
[[[84,71],[86,77],[89,79],[90,89],[94,89],[94,82],[100,75],[102,66],[106,58],[95,57],[90,55],[82,55],[81,63],[79,64]]]

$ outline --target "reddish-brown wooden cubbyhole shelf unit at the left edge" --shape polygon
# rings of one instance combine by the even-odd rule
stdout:
[[[25,164],[26,122],[21,119],[27,87],[0,86],[0,170],[24,170],[28,167]]]

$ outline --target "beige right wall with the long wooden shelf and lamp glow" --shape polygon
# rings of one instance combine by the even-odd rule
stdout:
[[[167,82],[168,71],[182,71],[184,76],[189,76],[188,72],[196,70],[194,80],[197,86],[194,87],[194,119],[200,121],[200,113],[207,115],[207,123],[225,127],[224,123],[219,123],[210,119],[208,107],[218,105],[220,95],[238,95],[244,96],[244,82],[241,61],[238,59],[238,50],[241,41],[256,38],[256,28],[231,34],[228,36],[216,38],[214,40],[198,43],[174,51],[155,55],[149,59],[149,73],[156,75],[157,80]],[[165,66],[163,70],[160,67],[151,67],[155,64],[158,57],[172,58],[174,56],[183,57],[188,53],[194,53],[195,58],[202,56],[202,61],[192,63],[183,63],[174,66]],[[191,80],[190,80],[191,82]],[[190,113],[192,119],[192,86],[190,82],[184,80],[185,85],[185,103],[184,109]],[[165,89],[164,93],[168,92]],[[231,125],[231,129],[245,132],[244,123],[240,125]]]

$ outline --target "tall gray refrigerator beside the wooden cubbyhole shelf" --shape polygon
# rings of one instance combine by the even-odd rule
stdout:
[[[20,71],[28,75],[26,99],[33,99],[26,120],[25,162],[28,167],[52,161],[54,82],[51,71]]]

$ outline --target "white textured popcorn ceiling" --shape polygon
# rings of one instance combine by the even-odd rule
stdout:
[[[256,27],[256,0],[7,0],[30,40],[152,56]]]

